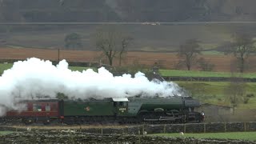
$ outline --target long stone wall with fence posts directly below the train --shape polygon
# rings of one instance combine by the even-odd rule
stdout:
[[[38,130],[33,126],[23,126],[19,128],[11,126],[0,126],[0,131],[26,131],[26,127]],[[63,130],[68,128],[63,127]],[[72,129],[70,126],[69,129]],[[217,132],[242,132],[256,131],[256,122],[216,122],[216,123],[186,123],[186,124],[166,124],[166,125],[138,125],[138,126],[118,126],[106,127],[96,126],[88,128],[76,128],[76,131],[90,134],[159,134],[159,133],[217,133]],[[44,127],[42,131],[47,131]],[[49,130],[49,129],[48,129]],[[54,127],[51,128],[54,130]],[[55,129],[56,130],[56,129]]]

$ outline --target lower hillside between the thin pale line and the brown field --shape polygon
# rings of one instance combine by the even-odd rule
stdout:
[[[0,47],[64,49],[66,35],[78,33],[82,37],[80,50],[97,50],[93,34],[101,27],[99,25],[0,26]],[[234,32],[242,31],[253,36],[256,34],[254,24],[118,25],[117,27],[123,34],[134,38],[129,50],[136,51],[172,52],[190,38],[198,39],[204,50],[212,51],[223,42],[232,40]]]

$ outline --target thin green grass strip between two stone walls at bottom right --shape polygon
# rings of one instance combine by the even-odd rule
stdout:
[[[180,134],[152,134],[154,136],[181,137]],[[204,133],[204,134],[184,134],[183,137],[190,138],[220,138],[220,139],[243,139],[256,141],[256,132],[232,132],[232,133]]]

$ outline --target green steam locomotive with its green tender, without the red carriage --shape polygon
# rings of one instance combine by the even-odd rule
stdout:
[[[194,111],[200,103],[190,97],[62,100],[58,106],[61,122],[67,124],[184,123],[203,120],[203,115]]]

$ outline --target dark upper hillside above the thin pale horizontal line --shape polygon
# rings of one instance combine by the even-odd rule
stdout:
[[[0,22],[255,21],[254,0],[1,0]]]

